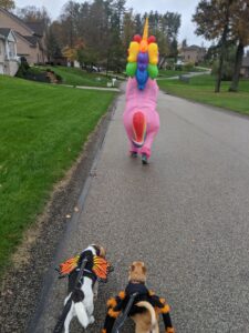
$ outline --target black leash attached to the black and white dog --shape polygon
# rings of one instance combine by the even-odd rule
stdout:
[[[85,258],[81,263],[80,271],[77,273],[77,278],[76,278],[76,281],[74,284],[74,289],[72,291],[70,299],[68,300],[68,302],[65,303],[65,305],[63,307],[62,314],[60,315],[60,317],[58,320],[58,323],[53,330],[53,333],[63,332],[65,317],[66,317],[68,313],[70,312],[71,305],[72,305],[72,295],[76,290],[80,290],[83,284],[82,278],[83,278],[83,272],[84,272],[86,263],[87,263],[87,258]]]

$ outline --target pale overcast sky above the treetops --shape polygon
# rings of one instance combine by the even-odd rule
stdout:
[[[25,6],[44,6],[53,19],[59,17],[65,2],[68,2],[68,0],[15,0],[15,4],[19,8]],[[77,0],[77,2],[84,2],[84,0]],[[127,8],[132,7],[137,12],[157,10],[158,12],[173,11],[180,13],[181,26],[178,37],[179,42],[186,38],[188,44],[195,43],[200,46],[204,42],[205,46],[208,46],[209,43],[207,41],[196,37],[194,33],[195,26],[191,22],[191,16],[199,0],[127,0],[126,4]],[[143,8],[141,3],[143,3]]]

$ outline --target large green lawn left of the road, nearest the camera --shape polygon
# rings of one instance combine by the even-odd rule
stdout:
[[[114,97],[0,75],[0,275]]]

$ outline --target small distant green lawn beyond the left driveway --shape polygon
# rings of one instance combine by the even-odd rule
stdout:
[[[106,87],[110,81],[100,73],[89,73],[79,68],[70,67],[40,67],[41,69],[50,69],[62,77],[63,84],[70,85],[89,85],[89,87]]]

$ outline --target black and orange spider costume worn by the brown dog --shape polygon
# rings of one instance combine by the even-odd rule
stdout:
[[[127,316],[133,316],[137,313],[144,313],[147,311],[146,309],[136,305],[141,301],[146,301],[152,304],[156,314],[163,315],[165,332],[175,333],[169,315],[169,305],[166,301],[155,295],[155,293],[149,291],[144,283],[131,282],[126,286],[125,291],[121,291],[116,297],[112,297],[107,301],[107,314],[102,333],[118,332],[118,329],[124,324],[124,321],[121,321],[120,325],[115,325],[115,321],[126,311],[131,296],[134,297],[134,301],[128,310]],[[124,317],[124,320],[126,320],[126,317]]]

